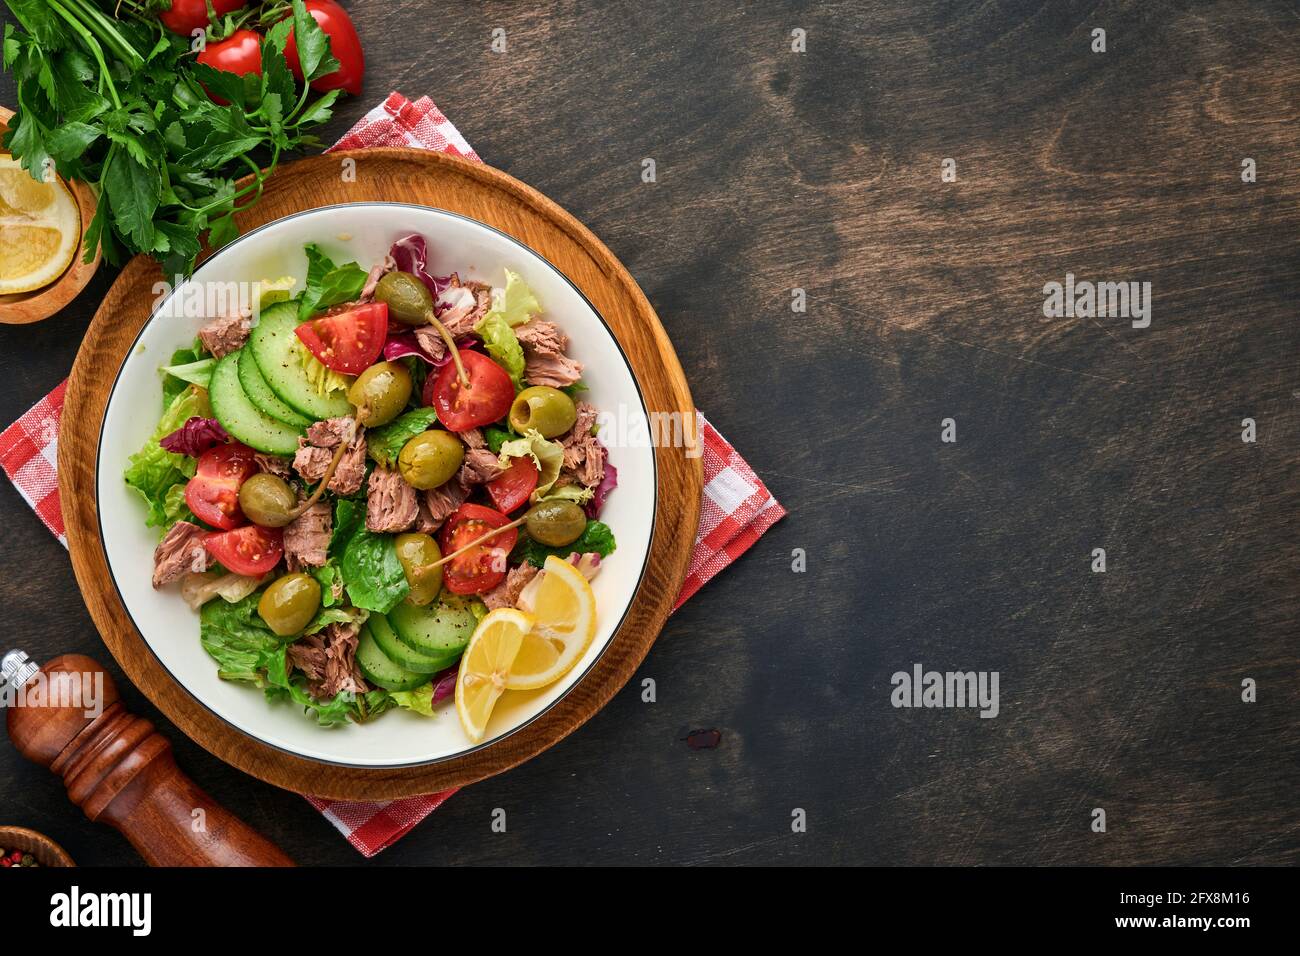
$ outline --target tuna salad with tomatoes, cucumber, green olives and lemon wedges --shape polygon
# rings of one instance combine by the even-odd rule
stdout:
[[[421,235],[369,269],[306,252],[161,369],[125,473],[153,587],[198,611],[221,678],[322,726],[455,697],[478,739],[502,688],[558,679],[595,630],[618,475],[582,364],[510,269],[430,274]],[[514,671],[467,671],[499,646]]]

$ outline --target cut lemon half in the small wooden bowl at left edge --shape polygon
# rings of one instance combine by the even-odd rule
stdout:
[[[36,182],[0,153],[0,295],[42,289],[61,274],[81,241],[81,215],[62,179]]]

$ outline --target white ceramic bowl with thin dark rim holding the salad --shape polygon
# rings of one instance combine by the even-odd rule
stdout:
[[[623,351],[601,316],[550,263],[516,239],[474,220],[442,209],[402,203],[350,203],[289,216],[240,237],[199,268],[191,282],[256,282],[307,274],[303,246],[318,243],[335,261],[356,260],[363,268],[386,255],[400,235],[421,233],[429,243],[429,271],[459,272],[493,285],[503,268],[520,273],[545,313],[569,337],[569,355],[584,364],[585,398],[603,412],[645,415],[645,405]],[[190,290],[178,289],[173,295]],[[433,718],[390,711],[365,724],[320,727],[291,704],[270,704],[248,683],[217,678],[217,667],[199,644],[199,617],[181,600],[177,587],[151,587],[157,532],[144,527],[144,502],[122,481],[126,459],[157,425],[161,407],[159,367],[177,349],[188,347],[202,317],[160,315],[146,323],[118,372],[108,399],[100,436],[100,532],[108,566],[127,613],[162,666],[194,697],[244,734],[291,753],[352,766],[390,767],[446,760],[471,747],[450,701]],[[534,692],[510,692],[497,706],[486,747],[519,730],[558,701],[590,669],[618,630],[632,602],[649,554],[655,510],[654,454],[645,447],[612,447],[619,488],[601,520],[618,538],[618,550],[593,583],[598,606],[595,640],[563,680]],[[220,600],[220,598],[217,598]]]

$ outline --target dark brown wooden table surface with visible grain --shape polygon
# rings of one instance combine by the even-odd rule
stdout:
[[[590,225],[790,511],[670,620],[658,702],[636,680],[376,864],[1300,861],[1292,4],[350,5],[367,90],[330,133],[428,94]],[[1149,281],[1150,326],[1044,319],[1066,273]],[[0,326],[0,423],[109,280]],[[0,600],[6,641],[107,658],[4,481]],[[894,709],[914,663],[997,671],[1000,715]],[[296,860],[361,861],[126,697]],[[136,862],[6,747],[0,822]]]

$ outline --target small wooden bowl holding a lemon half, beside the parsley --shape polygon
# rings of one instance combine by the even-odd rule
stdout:
[[[0,135],[12,111],[0,107]],[[95,193],[60,177],[38,182],[0,151],[0,324],[48,319],[86,287],[99,268],[82,261],[82,234],[95,215]]]

